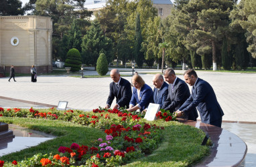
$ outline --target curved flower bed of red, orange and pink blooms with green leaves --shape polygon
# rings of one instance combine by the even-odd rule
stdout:
[[[175,116],[162,112],[157,113],[157,118],[162,118],[165,122],[175,120]],[[11,120],[13,118],[15,120]],[[102,108],[92,112],[82,112],[79,110],[58,111],[55,108],[50,110],[20,110],[18,108],[0,108],[0,121],[7,123],[21,122],[24,119],[47,120],[48,122],[68,122],[67,124],[80,124],[90,128],[102,130],[101,138],[79,142],[73,136],[72,143],[65,145],[58,143],[58,149],[52,152],[34,154],[25,160],[9,160],[4,162],[0,157],[1,166],[121,166],[137,158],[149,156],[164,138],[164,126],[150,124],[143,119],[143,115],[128,113],[126,110],[104,110]],[[20,120],[21,119],[21,120]],[[162,120],[158,120],[161,121]],[[54,124],[53,124],[54,125]],[[75,128],[72,128],[75,129]],[[78,129],[77,129],[78,130]],[[76,132],[79,135],[82,132]],[[95,131],[95,136],[96,135]],[[92,136],[94,134],[91,134]],[[61,136],[61,135],[60,135]],[[87,136],[83,136],[86,138]],[[55,140],[58,140],[56,138]],[[61,140],[60,140],[61,141]],[[79,140],[80,141],[80,140]],[[206,149],[207,150],[207,149]],[[40,150],[37,150],[40,152]],[[16,154],[16,153],[15,153]],[[15,156],[14,156],[15,157]]]

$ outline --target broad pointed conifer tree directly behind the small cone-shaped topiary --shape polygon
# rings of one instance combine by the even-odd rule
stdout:
[[[96,69],[97,59],[100,53],[105,53],[107,61],[111,62],[113,43],[111,39],[103,35],[99,21],[92,21],[89,31],[82,39],[82,62],[94,65]]]

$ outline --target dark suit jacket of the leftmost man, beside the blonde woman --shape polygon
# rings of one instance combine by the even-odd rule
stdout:
[[[111,106],[113,100],[117,98],[117,104],[120,108],[129,108],[129,102],[131,100],[131,83],[127,79],[121,77],[119,87],[117,89],[117,84],[113,81],[109,84],[110,92],[109,98],[107,99],[107,104]]]

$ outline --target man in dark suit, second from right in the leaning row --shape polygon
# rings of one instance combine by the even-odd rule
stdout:
[[[168,98],[162,108],[164,110],[170,110],[170,112],[175,112],[190,97],[190,90],[185,81],[176,77],[174,69],[166,69],[166,71],[164,71],[164,78],[170,84],[168,88]],[[190,110],[191,112],[184,114],[183,117],[188,118],[188,120],[196,121],[196,118],[198,118],[196,108],[190,108]]]

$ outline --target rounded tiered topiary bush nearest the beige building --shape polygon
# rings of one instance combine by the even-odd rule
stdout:
[[[72,48],[66,54],[65,66],[71,67],[70,71],[79,71],[81,67],[81,55],[78,49]]]

